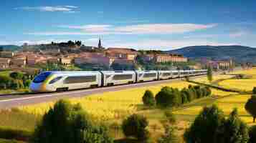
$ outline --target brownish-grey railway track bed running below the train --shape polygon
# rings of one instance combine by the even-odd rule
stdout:
[[[205,75],[190,77],[190,78],[194,79],[194,78],[199,78],[204,76]],[[50,92],[50,93],[40,93],[40,94],[14,94],[14,95],[9,94],[9,95],[0,97],[0,109],[10,109],[13,107],[26,106],[29,104],[39,104],[43,102],[54,102],[58,99],[85,97],[91,94],[98,94],[103,92],[115,92],[122,89],[132,89],[132,88],[138,88],[138,87],[153,86],[156,84],[178,82],[180,80],[181,79],[169,79],[169,80],[161,80],[161,81],[154,81],[154,82],[124,84],[124,85],[118,85],[113,87],[81,89],[81,90],[74,90],[74,91],[68,91],[68,92]]]

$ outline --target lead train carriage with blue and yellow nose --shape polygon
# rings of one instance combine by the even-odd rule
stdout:
[[[99,71],[46,71],[30,85],[33,92],[55,92],[101,86]]]

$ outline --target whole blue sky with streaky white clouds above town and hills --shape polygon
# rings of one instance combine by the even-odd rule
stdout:
[[[97,46],[256,47],[253,0],[1,0],[0,44],[81,40]]]

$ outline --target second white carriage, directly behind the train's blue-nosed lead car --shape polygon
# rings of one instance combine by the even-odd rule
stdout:
[[[134,71],[100,71],[103,74],[103,86],[132,84],[136,82]]]

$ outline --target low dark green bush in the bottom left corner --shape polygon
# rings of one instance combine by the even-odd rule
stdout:
[[[29,138],[31,136],[32,136],[32,132],[27,132],[27,131],[18,130],[18,129],[0,128],[1,139],[16,139],[16,140],[22,140],[22,141],[29,141]]]

